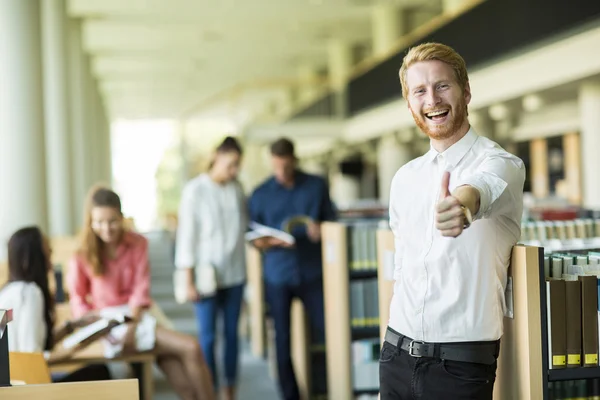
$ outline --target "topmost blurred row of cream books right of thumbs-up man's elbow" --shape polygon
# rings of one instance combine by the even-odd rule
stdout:
[[[580,218],[568,221],[527,221],[521,223],[521,240],[572,240],[600,237],[600,219]]]

